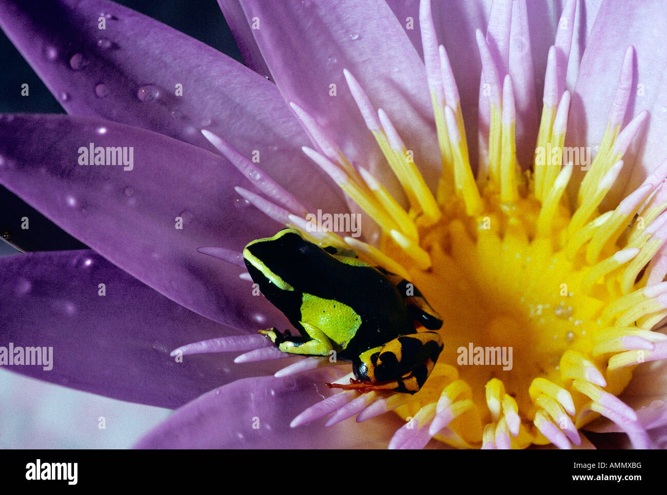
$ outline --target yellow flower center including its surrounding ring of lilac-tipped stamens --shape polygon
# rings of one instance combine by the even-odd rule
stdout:
[[[444,350],[426,384],[414,396],[384,398],[386,408],[406,418],[406,428],[466,448],[568,447],[600,414],[635,424],[634,411],[615,396],[653,342],[664,340],[650,328],[667,314],[658,300],[666,288],[647,286],[646,270],[664,243],[658,227],[667,204],[648,201],[662,167],[616,210],[598,207],[645,115],[622,132],[610,125],[592,164],[564,165],[566,91],[558,108],[545,105],[534,167],[521,173],[506,77],[500,109],[490,105],[487,167],[475,179],[460,108],[438,105],[433,94],[443,163],[433,195],[389,117],[382,109],[377,121],[368,117],[368,98],[350,73],[346,78],[410,206],[404,210],[342,154],[305,149],[382,229],[379,249],[333,233],[313,241],[346,243],[401,274],[444,320]],[[577,165],[590,170],[570,199]],[[370,404],[380,394],[368,395]]]

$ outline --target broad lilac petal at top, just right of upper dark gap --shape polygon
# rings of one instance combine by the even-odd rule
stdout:
[[[426,70],[384,1],[240,3],[248,25],[259,27],[252,33],[285,101],[313,116],[351,163],[376,171],[384,159],[348,89],[348,69],[394,119],[435,187],[440,153]],[[389,177],[386,169],[382,179]]]

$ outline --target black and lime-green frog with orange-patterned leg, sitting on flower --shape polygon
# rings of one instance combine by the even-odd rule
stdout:
[[[415,394],[444,348],[443,320],[402,276],[345,247],[320,246],[297,229],[255,239],[243,261],[261,294],[298,334],[259,330],[282,352],[352,362],[350,384],[329,388]],[[335,354],[334,354],[335,352]]]

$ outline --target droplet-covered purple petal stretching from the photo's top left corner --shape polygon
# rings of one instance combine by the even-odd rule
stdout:
[[[346,211],[338,188],[303,157],[307,137],[275,85],[215,49],[103,0],[4,1],[0,25],[67,113],[215,151],[205,127],[247,157],[258,151],[257,165],[305,203]]]

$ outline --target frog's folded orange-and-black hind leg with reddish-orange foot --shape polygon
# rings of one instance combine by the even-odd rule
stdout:
[[[330,386],[360,392],[394,390],[414,394],[431,374],[443,347],[436,332],[400,336],[354,360],[354,374],[359,379],[356,383]]]

